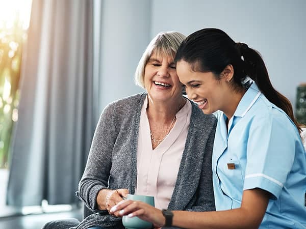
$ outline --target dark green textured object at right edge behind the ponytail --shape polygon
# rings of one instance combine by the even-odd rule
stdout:
[[[306,83],[301,83],[296,90],[296,120],[306,125]]]

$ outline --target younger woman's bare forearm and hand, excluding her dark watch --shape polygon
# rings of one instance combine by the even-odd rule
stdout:
[[[111,212],[119,212],[119,216],[138,216],[143,220],[154,223],[156,227],[165,225],[165,217],[162,211],[142,202],[124,201],[112,208]],[[258,228],[264,212],[264,209],[253,211],[251,208],[212,212],[172,211],[172,226],[188,229]]]

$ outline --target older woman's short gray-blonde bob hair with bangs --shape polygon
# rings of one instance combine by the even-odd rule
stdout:
[[[185,35],[175,31],[161,32],[156,35],[146,47],[138,63],[135,71],[136,85],[144,88],[144,68],[153,52],[174,58],[177,49],[185,38]]]

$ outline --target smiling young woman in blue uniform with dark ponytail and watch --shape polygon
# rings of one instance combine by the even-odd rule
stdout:
[[[306,228],[300,128],[260,54],[207,28],[187,37],[175,60],[188,97],[218,118],[212,159],[217,211],[160,211],[132,201],[113,211],[155,227]]]

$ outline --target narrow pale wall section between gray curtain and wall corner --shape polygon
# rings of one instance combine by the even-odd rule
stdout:
[[[96,55],[100,113],[108,103],[143,91],[135,85],[134,73],[149,43],[150,2],[97,0],[95,7],[99,5],[100,46]]]

